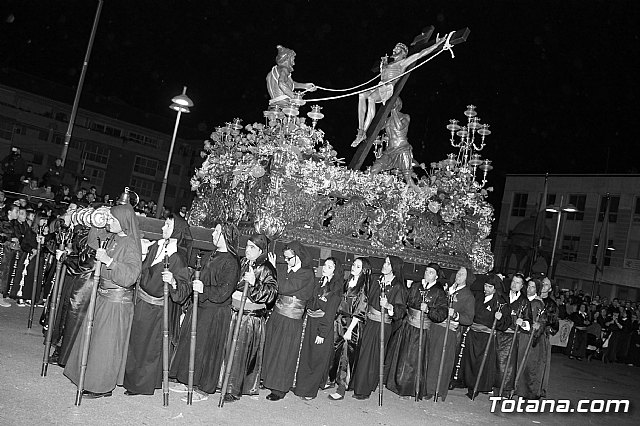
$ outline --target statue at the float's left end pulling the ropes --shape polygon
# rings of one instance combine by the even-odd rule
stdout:
[[[291,74],[295,65],[296,52],[283,46],[276,46],[276,65],[267,74],[267,90],[269,91],[269,105],[284,106],[294,97],[294,89],[304,89],[310,92],[316,90],[313,83],[297,83]]]

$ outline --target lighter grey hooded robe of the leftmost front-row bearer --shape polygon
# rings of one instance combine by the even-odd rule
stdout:
[[[111,209],[130,206],[116,206]],[[129,332],[133,320],[133,285],[140,276],[142,253],[137,225],[135,232],[127,225],[135,223],[133,209],[127,213],[128,220],[117,217],[125,236],[112,236],[106,246],[107,255],[113,261],[109,266],[102,264],[100,285],[96,298],[94,327],[89,344],[89,358],[84,389],[95,393],[112,391],[121,385],[129,345]],[[131,225],[133,226],[133,225]],[[88,244],[96,247],[95,228],[89,231]],[[84,323],[87,322],[85,317]],[[86,324],[83,324],[83,329]],[[76,339],[64,374],[78,384],[82,362],[84,333]]]

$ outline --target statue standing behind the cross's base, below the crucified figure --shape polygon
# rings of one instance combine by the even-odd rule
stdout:
[[[398,97],[393,109],[384,124],[389,142],[387,149],[371,166],[371,173],[380,173],[386,170],[398,169],[410,186],[415,186],[411,178],[413,169],[413,149],[407,139],[409,131],[409,114],[400,112],[402,100]]]

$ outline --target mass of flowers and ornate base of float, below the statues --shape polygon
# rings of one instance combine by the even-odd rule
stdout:
[[[492,188],[475,182],[468,167],[451,158],[430,170],[421,164],[414,187],[393,173],[350,170],[316,121],[273,117],[243,126],[235,119],[217,127],[191,178],[197,197],[189,223],[248,222],[270,238],[314,229],[372,247],[464,254],[480,272],[493,267]]]

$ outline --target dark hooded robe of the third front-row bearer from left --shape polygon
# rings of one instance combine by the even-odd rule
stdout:
[[[225,342],[231,324],[231,295],[240,278],[238,259],[228,252],[216,252],[204,261],[200,280],[204,291],[198,299],[196,326],[195,371],[193,385],[202,392],[215,393],[225,354]],[[182,321],[189,330],[193,305]],[[180,333],[178,349],[169,376],[187,384],[189,380],[189,348],[191,335]]]

